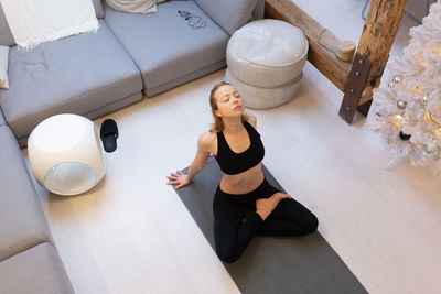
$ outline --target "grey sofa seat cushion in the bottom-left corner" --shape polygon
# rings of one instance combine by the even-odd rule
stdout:
[[[2,294],[68,294],[71,281],[56,250],[41,243],[0,262]]]

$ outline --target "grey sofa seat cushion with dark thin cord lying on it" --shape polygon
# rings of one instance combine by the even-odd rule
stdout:
[[[185,20],[179,11],[193,17]],[[189,25],[198,20],[206,25],[200,29]],[[106,7],[105,21],[140,68],[144,92],[225,61],[229,35],[194,1],[163,2],[158,4],[157,13],[150,14],[125,13]]]

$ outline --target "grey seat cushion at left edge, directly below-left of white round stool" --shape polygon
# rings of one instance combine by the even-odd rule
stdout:
[[[1,261],[52,238],[19,145],[7,126],[0,126],[0,150]]]

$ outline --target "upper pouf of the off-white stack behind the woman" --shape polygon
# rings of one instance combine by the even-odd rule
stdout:
[[[257,20],[237,30],[227,45],[233,76],[265,88],[282,86],[302,70],[308,56],[303,32],[279,20]]]

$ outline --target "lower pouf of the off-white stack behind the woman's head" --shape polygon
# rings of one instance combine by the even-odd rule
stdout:
[[[225,73],[225,81],[232,84],[244,99],[246,107],[254,109],[267,109],[276,106],[281,106],[291,100],[292,95],[297,91],[300,85],[302,74],[297,76],[288,84],[276,88],[262,88],[245,84],[229,73]]]

